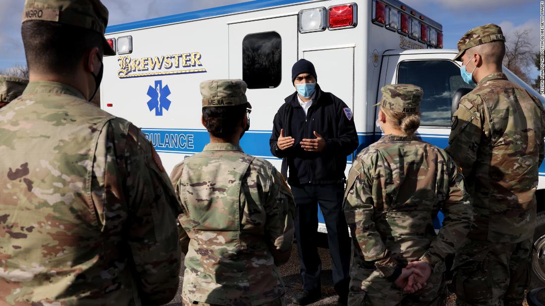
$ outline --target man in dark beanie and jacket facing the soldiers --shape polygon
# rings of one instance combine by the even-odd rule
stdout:
[[[270,150],[282,158],[296,205],[297,240],[303,291],[299,305],[320,299],[322,263],[317,250],[318,204],[328,231],[335,291],[339,303],[348,297],[350,240],[342,211],[347,155],[358,147],[352,110],[317,84],[314,65],[301,59],[293,65],[295,92],[274,118]],[[289,170],[289,171],[288,171]]]

